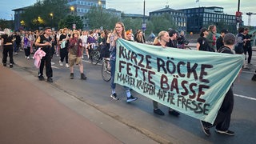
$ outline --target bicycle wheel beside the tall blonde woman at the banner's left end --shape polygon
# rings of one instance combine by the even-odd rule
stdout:
[[[111,79],[110,58],[102,58],[102,79],[109,82]]]

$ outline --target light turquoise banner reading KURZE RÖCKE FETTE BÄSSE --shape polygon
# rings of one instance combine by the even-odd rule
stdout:
[[[243,58],[242,54],[163,48],[118,38],[114,82],[213,123]]]

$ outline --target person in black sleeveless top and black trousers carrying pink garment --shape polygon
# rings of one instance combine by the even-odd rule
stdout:
[[[40,68],[38,72],[38,78],[40,81],[44,80],[45,78],[43,77],[43,68],[46,64],[46,76],[47,76],[47,82],[53,82],[53,70],[51,68],[51,46],[52,46],[52,41],[50,38],[51,34],[51,28],[46,27],[44,30],[44,33],[42,35],[39,35],[36,42],[35,46],[41,47],[41,50],[46,52],[46,56],[42,57],[41,63],[40,63]]]

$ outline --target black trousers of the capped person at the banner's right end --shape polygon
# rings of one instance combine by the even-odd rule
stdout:
[[[203,122],[202,125],[206,128],[216,126],[217,130],[226,131],[230,127],[230,118],[234,106],[234,94],[232,88],[226,93],[226,96],[222,102],[221,108],[218,110],[217,118],[214,124],[211,125],[209,122]]]

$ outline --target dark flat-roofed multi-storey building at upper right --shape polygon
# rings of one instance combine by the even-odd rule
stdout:
[[[212,24],[229,26],[230,31],[236,29],[235,15],[224,14],[222,7],[195,7],[180,11],[186,14],[187,32],[198,33],[202,27],[208,27]]]

